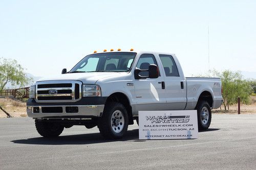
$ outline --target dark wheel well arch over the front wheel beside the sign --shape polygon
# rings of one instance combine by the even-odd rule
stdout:
[[[129,125],[133,125],[133,113],[132,113],[132,107],[129,101],[129,98],[124,93],[121,92],[115,92],[112,93],[105,102],[105,107],[109,102],[118,102],[121,103],[125,108],[128,113],[128,118],[129,118]],[[104,108],[105,110],[105,108]]]

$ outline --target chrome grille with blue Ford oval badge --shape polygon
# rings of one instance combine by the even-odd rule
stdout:
[[[35,100],[38,103],[77,102],[81,99],[81,87],[79,81],[36,82]]]

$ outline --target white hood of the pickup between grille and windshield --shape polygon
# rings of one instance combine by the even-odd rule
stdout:
[[[52,81],[52,80],[79,80],[83,84],[95,84],[98,80],[117,77],[121,74],[127,74],[126,72],[79,72],[79,73],[70,73],[63,75],[50,76],[46,78],[41,78],[39,81]]]

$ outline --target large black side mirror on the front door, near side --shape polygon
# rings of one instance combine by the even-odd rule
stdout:
[[[148,71],[148,76],[140,76],[141,71]],[[142,79],[142,78],[150,78],[150,79],[156,79],[159,77],[159,69],[158,66],[155,64],[151,64],[148,69],[139,69],[135,68],[134,70],[134,78],[136,80]]]

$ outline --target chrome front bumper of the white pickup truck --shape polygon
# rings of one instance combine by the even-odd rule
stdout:
[[[39,108],[38,113],[33,112],[33,107]],[[61,113],[45,113],[42,112],[42,107],[62,107]],[[67,113],[66,107],[77,107],[77,113]],[[29,117],[42,118],[42,117],[75,117],[75,116],[101,116],[104,109],[104,105],[84,105],[84,106],[27,106],[27,113]]]

